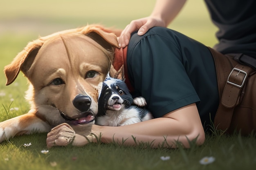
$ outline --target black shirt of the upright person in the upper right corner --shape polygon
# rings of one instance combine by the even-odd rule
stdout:
[[[256,58],[256,0],[205,0],[219,28],[217,51],[244,53]]]

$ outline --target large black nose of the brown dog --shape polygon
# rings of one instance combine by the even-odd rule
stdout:
[[[90,109],[91,102],[90,97],[86,95],[77,95],[73,100],[73,105],[81,112],[87,112]]]

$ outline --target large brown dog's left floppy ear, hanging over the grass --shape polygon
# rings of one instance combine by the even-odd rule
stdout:
[[[42,44],[43,42],[40,40],[29,42],[25,49],[16,55],[11,64],[4,67],[5,77],[7,78],[5,85],[9,85],[14,82],[20,73],[20,70],[22,70],[22,72],[26,75],[26,72],[33,63],[34,58]]]

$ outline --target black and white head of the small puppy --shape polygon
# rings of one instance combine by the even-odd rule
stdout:
[[[107,77],[102,84],[97,117],[105,115],[106,110],[120,110],[122,107],[129,107],[132,103],[132,95],[126,83],[120,79]]]

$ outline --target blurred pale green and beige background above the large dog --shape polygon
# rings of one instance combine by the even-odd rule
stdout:
[[[150,15],[154,4],[155,0],[1,0],[0,35],[37,38],[87,23],[123,29],[131,20]],[[216,28],[203,0],[188,0],[169,27],[210,46],[216,42]]]

